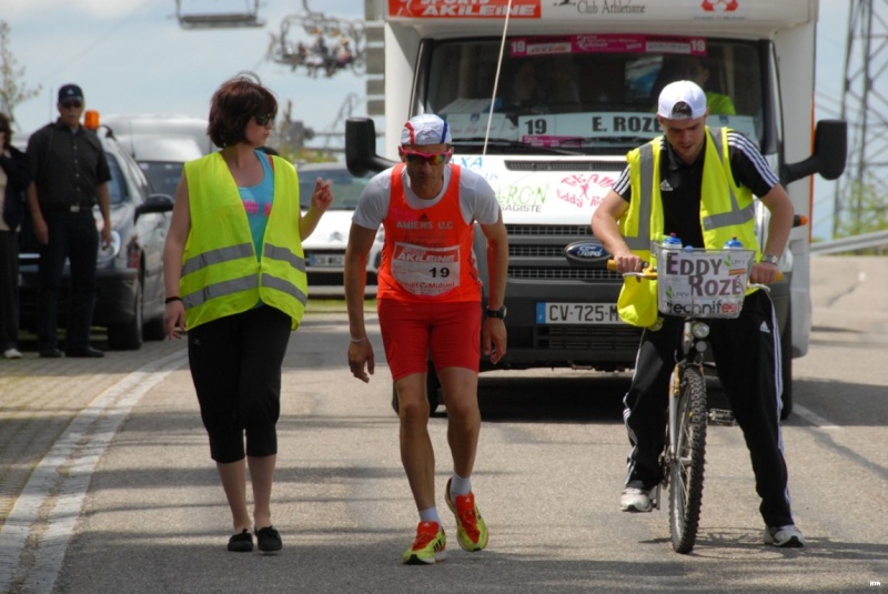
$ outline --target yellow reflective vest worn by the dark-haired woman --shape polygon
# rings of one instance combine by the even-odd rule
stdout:
[[[238,185],[219,152],[185,163],[191,230],[180,295],[188,328],[250,310],[260,300],[299,328],[309,299],[299,234],[299,179],[273,157],[274,202],[258,259]]]

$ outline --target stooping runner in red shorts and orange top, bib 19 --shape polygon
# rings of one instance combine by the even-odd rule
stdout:
[[[447,123],[437,115],[416,115],[404,124],[402,162],[367,184],[345,251],[349,366],[355,377],[369,382],[375,364],[364,328],[365,271],[376,231],[380,224],[385,228],[376,298],[385,358],[397,392],[401,460],[420,512],[416,538],[404,552],[404,562],[411,564],[441,561],[446,545],[435,507],[435,454],[425,395],[428,358],[441,380],[453,457],[444,499],[456,516],[460,546],[481,551],[487,545],[487,526],[470,481],[481,431],[478,364],[482,346],[493,363],[506,353],[506,229],[484,178],[450,163],[451,142]],[[475,222],[487,239],[484,316],[472,251]]]

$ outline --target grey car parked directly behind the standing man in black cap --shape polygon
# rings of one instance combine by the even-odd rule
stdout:
[[[90,118],[87,118],[89,121]],[[143,339],[163,339],[163,244],[170,228],[173,199],[155,193],[139,164],[108,128],[95,130],[111,169],[109,248],[97,254],[97,295],[93,325],[108,329],[111,350],[135,350]],[[103,224],[93,208],[97,228]],[[21,326],[33,331],[37,322],[39,245],[30,218],[20,238]],[[59,322],[64,324],[70,304],[70,269],[65,263],[59,300]]]

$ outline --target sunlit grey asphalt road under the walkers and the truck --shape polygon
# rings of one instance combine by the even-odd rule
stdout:
[[[417,519],[389,371],[377,366],[369,385],[352,379],[345,316],[325,313],[306,318],[285,361],[278,555],[225,551],[229,513],[182,344],[2,362],[0,592],[878,591],[888,585],[888,258],[820,256],[813,270],[811,350],[795,361],[796,412],[784,425],[806,548],[761,544],[737,427],[709,432],[697,546],[678,555],[665,510],[618,511],[628,376],[495,372],[482,376],[473,476],[490,546],[460,550],[438,493],[450,558],[404,566]],[[443,413],[431,429],[443,490]]]

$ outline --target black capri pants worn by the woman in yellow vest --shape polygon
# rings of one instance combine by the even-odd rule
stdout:
[[[189,330],[191,379],[214,461],[278,453],[281,366],[290,333],[290,316],[269,305]]]

